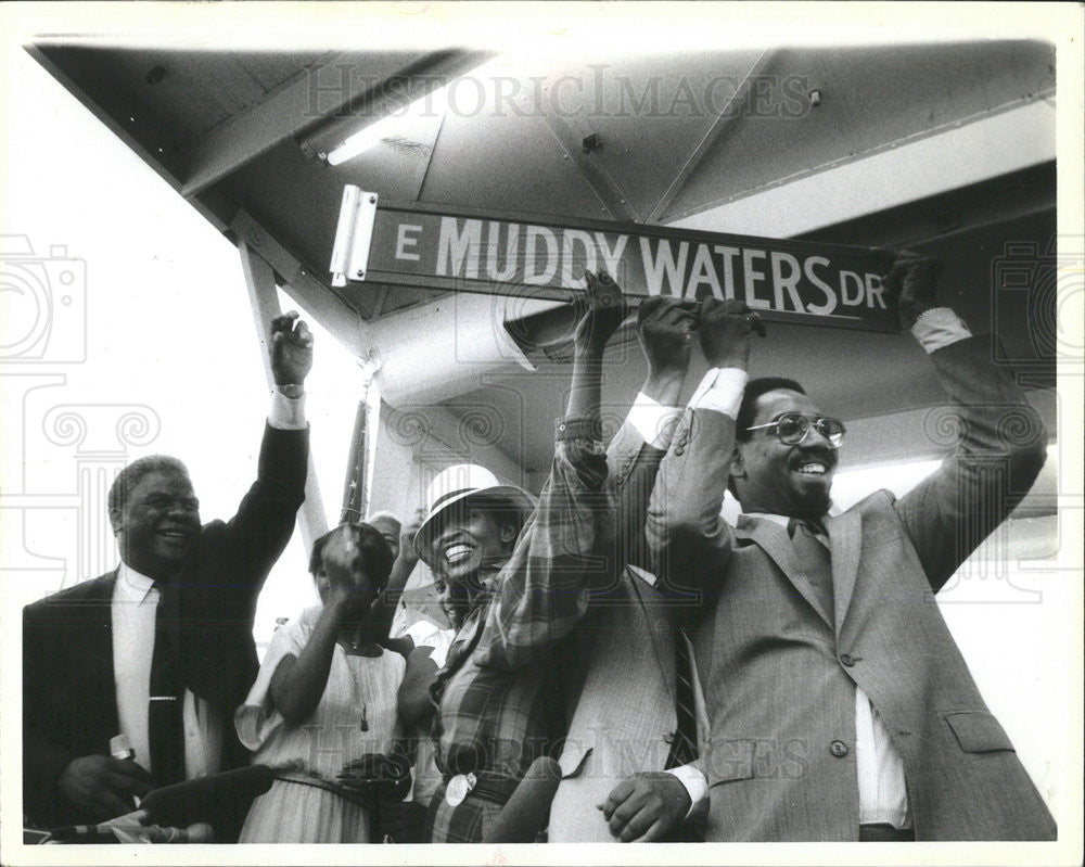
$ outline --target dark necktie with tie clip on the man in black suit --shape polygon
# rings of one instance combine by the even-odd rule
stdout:
[[[154,652],[151,658],[150,704],[146,714],[151,749],[151,776],[155,787],[184,779],[184,728],[181,717],[181,684],[177,665],[176,594],[155,582],[158,608],[154,617]]]

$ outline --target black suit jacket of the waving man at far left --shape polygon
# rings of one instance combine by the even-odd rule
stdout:
[[[222,769],[247,764],[234,709],[256,678],[256,598],[305,499],[308,431],[268,426],[256,483],[228,522],[206,524],[177,581],[186,686],[224,715]],[[23,611],[23,812],[56,826],[87,817],[56,786],[73,758],[110,753],[119,731],[111,603],[116,571]]]

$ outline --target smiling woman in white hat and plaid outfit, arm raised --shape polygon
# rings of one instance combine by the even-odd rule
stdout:
[[[579,619],[582,586],[599,568],[592,554],[608,511],[600,496],[607,477],[599,442],[602,355],[626,314],[612,279],[586,278],[569,406],[535,514],[527,518],[534,503],[521,488],[476,464],[459,464],[434,479],[416,536],[456,626],[429,688],[444,778],[426,817],[425,833],[435,843],[487,839],[561,726],[557,648]]]

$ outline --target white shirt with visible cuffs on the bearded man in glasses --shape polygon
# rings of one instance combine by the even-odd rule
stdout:
[[[927,310],[911,327],[911,333],[928,353],[971,336],[965,322],[948,307]],[[738,416],[746,380],[744,370],[712,368],[693,393],[689,406],[692,409],[723,412],[733,419]],[[758,513],[758,517],[784,526],[788,523],[783,515]],[[910,828],[904,763],[893,748],[881,716],[858,686],[855,688],[855,763],[858,774],[859,824],[888,823],[896,828]],[[682,768],[681,772],[686,776],[700,773],[693,768]],[[687,789],[690,789],[688,783]],[[692,791],[690,789],[691,794]]]

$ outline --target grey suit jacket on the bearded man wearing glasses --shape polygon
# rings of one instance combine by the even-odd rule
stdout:
[[[856,685],[904,762],[917,839],[1054,839],[934,601],[1044,462],[1038,417],[991,358],[979,337],[933,353],[965,420],[954,454],[899,500],[882,490],[828,519],[830,617],[786,530],[753,520],[731,531],[718,518],[733,419],[684,416],[648,535],[671,591],[702,595],[693,641],[711,725],[706,839],[857,839]]]

